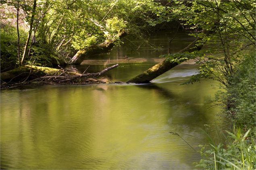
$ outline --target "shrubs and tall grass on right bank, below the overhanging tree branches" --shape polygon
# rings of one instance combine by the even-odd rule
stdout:
[[[209,143],[201,145],[202,159],[196,163],[196,169],[256,169],[255,54],[245,55],[227,81],[226,91],[222,91],[217,100],[226,106],[224,114],[232,133],[219,130],[219,136],[224,139],[219,143],[214,143],[206,133]]]

